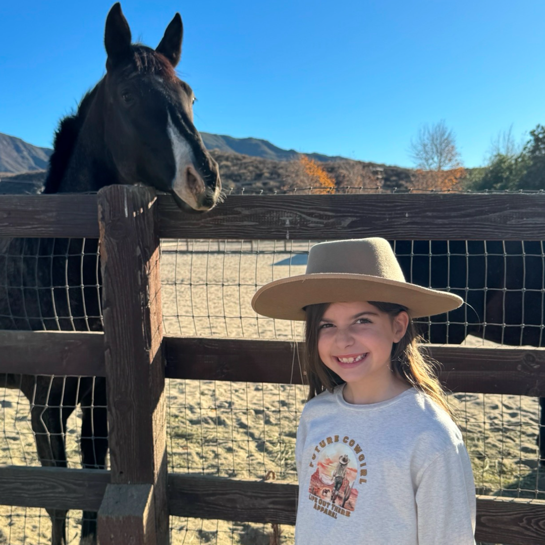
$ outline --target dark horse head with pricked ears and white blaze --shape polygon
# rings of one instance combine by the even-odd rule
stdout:
[[[193,91],[174,71],[182,35],[177,13],[155,50],[131,44],[120,4],[113,5],[104,40],[104,143],[120,183],[151,185],[182,208],[205,211],[217,203],[221,181],[193,125]]]

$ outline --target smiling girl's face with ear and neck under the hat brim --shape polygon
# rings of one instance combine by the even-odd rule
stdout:
[[[390,368],[392,344],[408,321],[406,312],[391,317],[368,302],[331,303],[318,325],[318,354],[349,391],[380,395],[398,382]]]

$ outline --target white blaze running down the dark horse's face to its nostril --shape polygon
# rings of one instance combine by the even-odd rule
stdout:
[[[197,173],[195,166],[193,166],[195,157],[191,146],[172,123],[170,114],[168,114],[167,132],[171,140],[174,161],[176,162],[172,189],[182,201],[189,204],[191,208],[199,210],[201,205],[198,197],[205,191],[204,181]]]

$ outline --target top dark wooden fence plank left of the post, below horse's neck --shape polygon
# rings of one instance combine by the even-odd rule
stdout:
[[[0,237],[99,237],[96,195],[0,195]]]

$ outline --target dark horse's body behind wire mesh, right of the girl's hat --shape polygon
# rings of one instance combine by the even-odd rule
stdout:
[[[545,252],[542,241],[396,241],[409,282],[449,289],[467,305],[421,323],[432,343],[467,335],[495,343],[545,347]],[[545,398],[536,443],[545,466]]]

